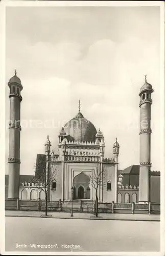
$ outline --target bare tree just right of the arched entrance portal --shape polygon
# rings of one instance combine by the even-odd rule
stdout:
[[[95,200],[96,200],[96,217],[98,217],[98,189],[106,185],[106,171],[105,166],[97,166],[93,168],[93,172],[90,177],[90,185],[95,189]]]

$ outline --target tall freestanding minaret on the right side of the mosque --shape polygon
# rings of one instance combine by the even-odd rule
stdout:
[[[150,202],[150,154],[151,154],[151,84],[147,82],[140,89],[140,171],[139,171],[139,203]]]

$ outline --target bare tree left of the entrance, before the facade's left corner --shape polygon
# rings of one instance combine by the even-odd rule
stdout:
[[[44,158],[41,158],[38,163],[35,164],[35,169],[37,169],[37,173],[33,177],[33,182],[37,183],[37,187],[42,190],[45,195],[45,216],[47,216],[48,213],[50,188],[52,183],[56,181],[57,176],[57,165],[51,165],[48,168],[48,164],[50,165],[50,163],[46,163]]]

